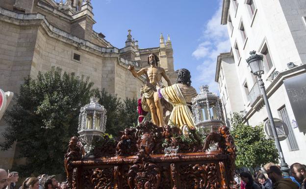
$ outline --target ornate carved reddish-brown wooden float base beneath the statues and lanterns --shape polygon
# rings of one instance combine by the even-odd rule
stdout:
[[[192,142],[178,139],[179,131],[151,122],[126,129],[118,140],[104,136],[84,157],[76,136],[65,155],[70,189],[230,189],[233,188],[235,146],[229,128],[206,137],[204,145],[196,131]],[[188,137],[188,136],[186,136]],[[216,151],[209,151],[210,144]]]

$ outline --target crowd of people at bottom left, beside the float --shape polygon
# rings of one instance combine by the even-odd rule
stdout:
[[[0,168],[0,189],[18,189],[16,183],[19,179],[18,172],[6,172]],[[55,175],[39,175],[38,177],[28,177],[19,189],[64,189],[65,183],[59,184]]]

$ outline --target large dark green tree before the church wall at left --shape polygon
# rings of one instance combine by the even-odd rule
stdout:
[[[89,78],[62,74],[51,68],[37,79],[25,79],[16,95],[16,104],[7,111],[9,127],[3,133],[2,150],[18,141],[20,157],[26,165],[15,166],[23,175],[64,172],[63,159],[69,139],[77,135],[79,109],[93,95]]]

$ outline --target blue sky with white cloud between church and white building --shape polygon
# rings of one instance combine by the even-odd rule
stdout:
[[[170,34],[175,70],[191,72],[192,85],[214,82],[216,58],[228,52],[227,28],[220,25],[221,0],[91,0],[94,30],[102,32],[112,45],[123,48],[131,29],[139,48],[159,46],[162,32]]]

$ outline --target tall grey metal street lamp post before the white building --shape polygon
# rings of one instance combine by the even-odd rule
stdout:
[[[288,164],[285,162],[285,159],[284,159],[283,154],[282,154],[282,150],[281,150],[281,147],[280,147],[280,140],[279,140],[278,135],[277,135],[276,127],[275,127],[275,124],[274,124],[273,116],[272,116],[272,113],[271,113],[269,101],[268,101],[266,90],[265,90],[265,86],[264,86],[264,83],[261,79],[261,75],[264,74],[263,61],[262,61],[263,60],[263,55],[256,54],[255,51],[251,51],[250,54],[251,54],[251,56],[247,59],[247,63],[251,67],[252,73],[255,76],[257,76],[260,91],[261,91],[264,103],[266,105],[266,108],[267,108],[268,118],[269,118],[271,128],[272,128],[272,132],[273,132],[273,135],[274,135],[276,148],[277,148],[277,150],[279,152],[279,155],[280,155],[280,166],[281,166],[280,170],[282,171],[283,176],[289,176],[289,170],[290,169],[288,167]]]

